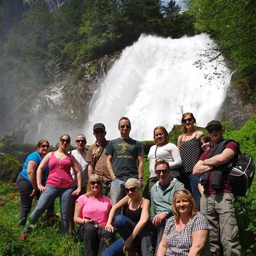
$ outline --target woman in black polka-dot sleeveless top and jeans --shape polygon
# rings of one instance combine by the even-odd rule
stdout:
[[[182,171],[180,181],[194,196],[198,208],[200,208],[200,193],[198,190],[197,176],[193,175],[193,168],[200,157],[199,137],[203,132],[197,131],[196,119],[192,113],[182,115],[183,134],[179,136],[177,146],[180,149]]]

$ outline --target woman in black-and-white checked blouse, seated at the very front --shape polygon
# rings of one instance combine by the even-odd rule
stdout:
[[[207,237],[211,227],[187,189],[175,191],[172,211],[174,216],[166,222],[157,256],[210,256]]]

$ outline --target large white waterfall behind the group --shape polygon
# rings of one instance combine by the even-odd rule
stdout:
[[[194,113],[199,126],[205,126],[216,116],[230,81],[224,64],[219,63],[217,70],[210,63],[202,69],[194,65],[203,60],[200,54],[209,46],[214,42],[206,34],[180,39],[140,36],[123,50],[101,83],[84,131],[102,122],[107,138],[114,139],[119,136],[119,118],[127,116],[132,138],[153,140],[157,125],[170,131],[180,123],[181,107],[183,112]],[[214,72],[224,75],[218,77]],[[87,137],[90,143],[94,141],[88,132]]]

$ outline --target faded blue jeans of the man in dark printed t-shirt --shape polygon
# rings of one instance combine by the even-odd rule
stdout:
[[[111,182],[111,188],[110,188],[110,199],[115,205],[118,201],[120,201],[122,198],[126,196],[125,194],[125,181],[124,180],[119,180],[115,178]],[[120,214],[121,209],[118,209],[116,211],[116,214]]]

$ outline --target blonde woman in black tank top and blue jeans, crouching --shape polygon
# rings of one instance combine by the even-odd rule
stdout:
[[[140,181],[130,178],[125,182],[126,196],[113,206],[110,211],[106,230],[114,232],[114,226],[120,233],[121,238],[106,249],[102,256],[135,255],[135,251],[142,256],[150,256],[152,253],[152,242],[150,227],[148,224],[150,214],[150,201],[140,196]],[[117,209],[123,209],[123,215],[115,218]]]

